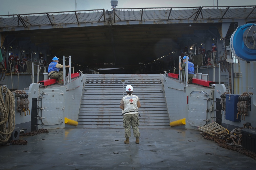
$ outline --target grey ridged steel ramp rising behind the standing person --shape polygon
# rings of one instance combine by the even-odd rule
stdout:
[[[123,128],[119,106],[128,84],[140,98],[139,127],[170,128],[159,74],[87,74],[77,127]]]

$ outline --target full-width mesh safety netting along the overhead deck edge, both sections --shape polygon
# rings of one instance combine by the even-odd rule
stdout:
[[[106,12],[106,13],[105,13]],[[113,11],[81,10],[16,14],[0,16],[0,29],[44,25],[107,23],[112,21],[173,21],[173,20],[224,20],[254,19],[256,6],[173,7],[173,8],[115,8]],[[110,25],[113,23],[111,22]]]

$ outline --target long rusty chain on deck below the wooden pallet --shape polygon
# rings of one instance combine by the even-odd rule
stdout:
[[[252,152],[252,151],[249,151],[245,148],[241,148],[237,145],[230,145],[229,143],[227,143],[225,140],[223,139],[220,139],[218,137],[214,137],[214,136],[211,136],[209,134],[206,134],[206,133],[202,133],[202,136],[205,138],[205,139],[208,139],[208,140],[212,140],[214,141],[215,143],[218,143],[218,145],[222,148],[225,148],[225,149],[229,149],[229,150],[233,150],[233,151],[237,151],[239,153],[242,153],[246,156],[249,156],[251,157],[252,159],[256,160],[256,153]]]

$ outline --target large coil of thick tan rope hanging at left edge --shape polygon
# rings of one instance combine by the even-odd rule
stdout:
[[[1,86],[0,90],[0,143],[4,144],[15,128],[15,101],[7,86]]]

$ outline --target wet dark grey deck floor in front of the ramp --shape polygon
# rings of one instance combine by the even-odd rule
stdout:
[[[140,144],[124,129],[61,128],[20,136],[27,145],[0,146],[0,169],[251,169],[256,160],[219,147],[198,130],[140,129]],[[132,130],[131,130],[132,132]]]

